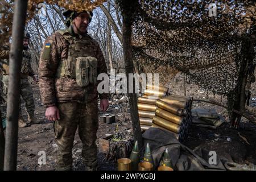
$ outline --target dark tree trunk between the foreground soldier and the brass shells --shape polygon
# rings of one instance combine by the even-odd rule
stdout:
[[[125,71],[127,78],[129,77],[129,73],[133,73],[134,64],[133,64],[133,48],[131,46],[131,24],[133,23],[133,7],[130,7],[135,3],[134,1],[123,0],[123,56],[125,59]],[[135,7],[134,7],[135,8]],[[129,82],[127,81],[127,90],[129,90]],[[135,84],[133,82],[133,88],[135,88]],[[138,116],[138,106],[137,106],[137,95],[135,93],[128,93],[129,104],[131,109],[131,122],[133,125],[133,135],[134,139],[138,140],[139,147],[142,148],[142,134],[141,134],[141,126],[139,124],[139,116]]]

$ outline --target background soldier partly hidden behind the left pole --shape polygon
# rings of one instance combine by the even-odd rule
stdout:
[[[31,68],[31,53],[28,50],[28,42],[30,35],[25,32],[23,40],[23,59],[22,69],[20,73],[20,96],[23,98],[26,104],[26,112],[28,115],[28,122],[24,121],[22,113],[19,113],[19,127],[30,126],[31,123],[38,123],[39,121],[34,116],[35,104],[33,98],[33,92],[31,85],[28,82],[28,76],[31,76],[36,81],[36,76]],[[9,82],[9,49],[10,44],[6,44],[6,48],[0,52],[0,59],[2,65],[2,82],[3,82],[3,93],[7,96],[8,82]]]

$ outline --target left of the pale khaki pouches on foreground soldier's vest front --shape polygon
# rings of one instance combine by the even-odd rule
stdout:
[[[89,60],[87,57],[76,58],[76,82],[82,88],[89,84]]]

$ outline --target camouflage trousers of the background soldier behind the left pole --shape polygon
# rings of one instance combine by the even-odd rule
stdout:
[[[3,93],[6,94],[8,92],[9,85],[9,75],[3,75]],[[27,114],[34,115],[35,104],[33,98],[33,92],[30,83],[28,82],[28,78],[20,78],[20,96],[23,98],[26,106]],[[21,115],[21,112],[20,112]]]

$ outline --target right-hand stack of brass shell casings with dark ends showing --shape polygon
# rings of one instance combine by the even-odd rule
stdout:
[[[183,141],[192,123],[192,98],[170,95],[160,98],[155,105],[157,109],[152,127],[168,130],[180,142]]]

